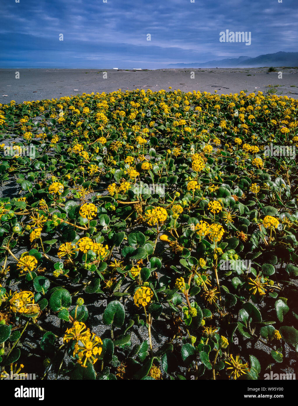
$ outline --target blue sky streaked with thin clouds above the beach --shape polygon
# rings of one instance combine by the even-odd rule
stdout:
[[[2,68],[159,69],[298,50],[298,0],[0,0],[0,9]],[[251,32],[251,45],[220,42],[227,29]]]

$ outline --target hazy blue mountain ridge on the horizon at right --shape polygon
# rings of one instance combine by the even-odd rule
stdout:
[[[262,67],[262,66],[298,66],[298,52],[279,51],[275,54],[259,55],[255,58],[240,56],[239,58],[209,60],[202,63],[171,63],[169,68],[234,68],[234,67]]]

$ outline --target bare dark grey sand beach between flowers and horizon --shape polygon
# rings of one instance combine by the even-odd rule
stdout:
[[[0,103],[15,100],[43,100],[91,92],[113,92],[133,89],[180,89],[184,92],[207,91],[218,94],[271,91],[268,84],[281,85],[274,93],[297,98],[298,70],[276,68],[267,74],[267,68],[213,68],[213,69],[157,69],[154,71],[116,71],[107,69],[0,69]],[[15,73],[19,72],[19,79]],[[86,73],[88,72],[88,73]],[[194,72],[194,78],[191,78]],[[281,79],[278,72],[282,72]],[[248,76],[251,75],[251,76]],[[291,87],[294,86],[294,87]]]

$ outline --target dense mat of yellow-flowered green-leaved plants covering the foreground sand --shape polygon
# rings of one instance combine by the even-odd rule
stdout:
[[[2,379],[295,372],[297,109],[139,89],[0,105]]]

